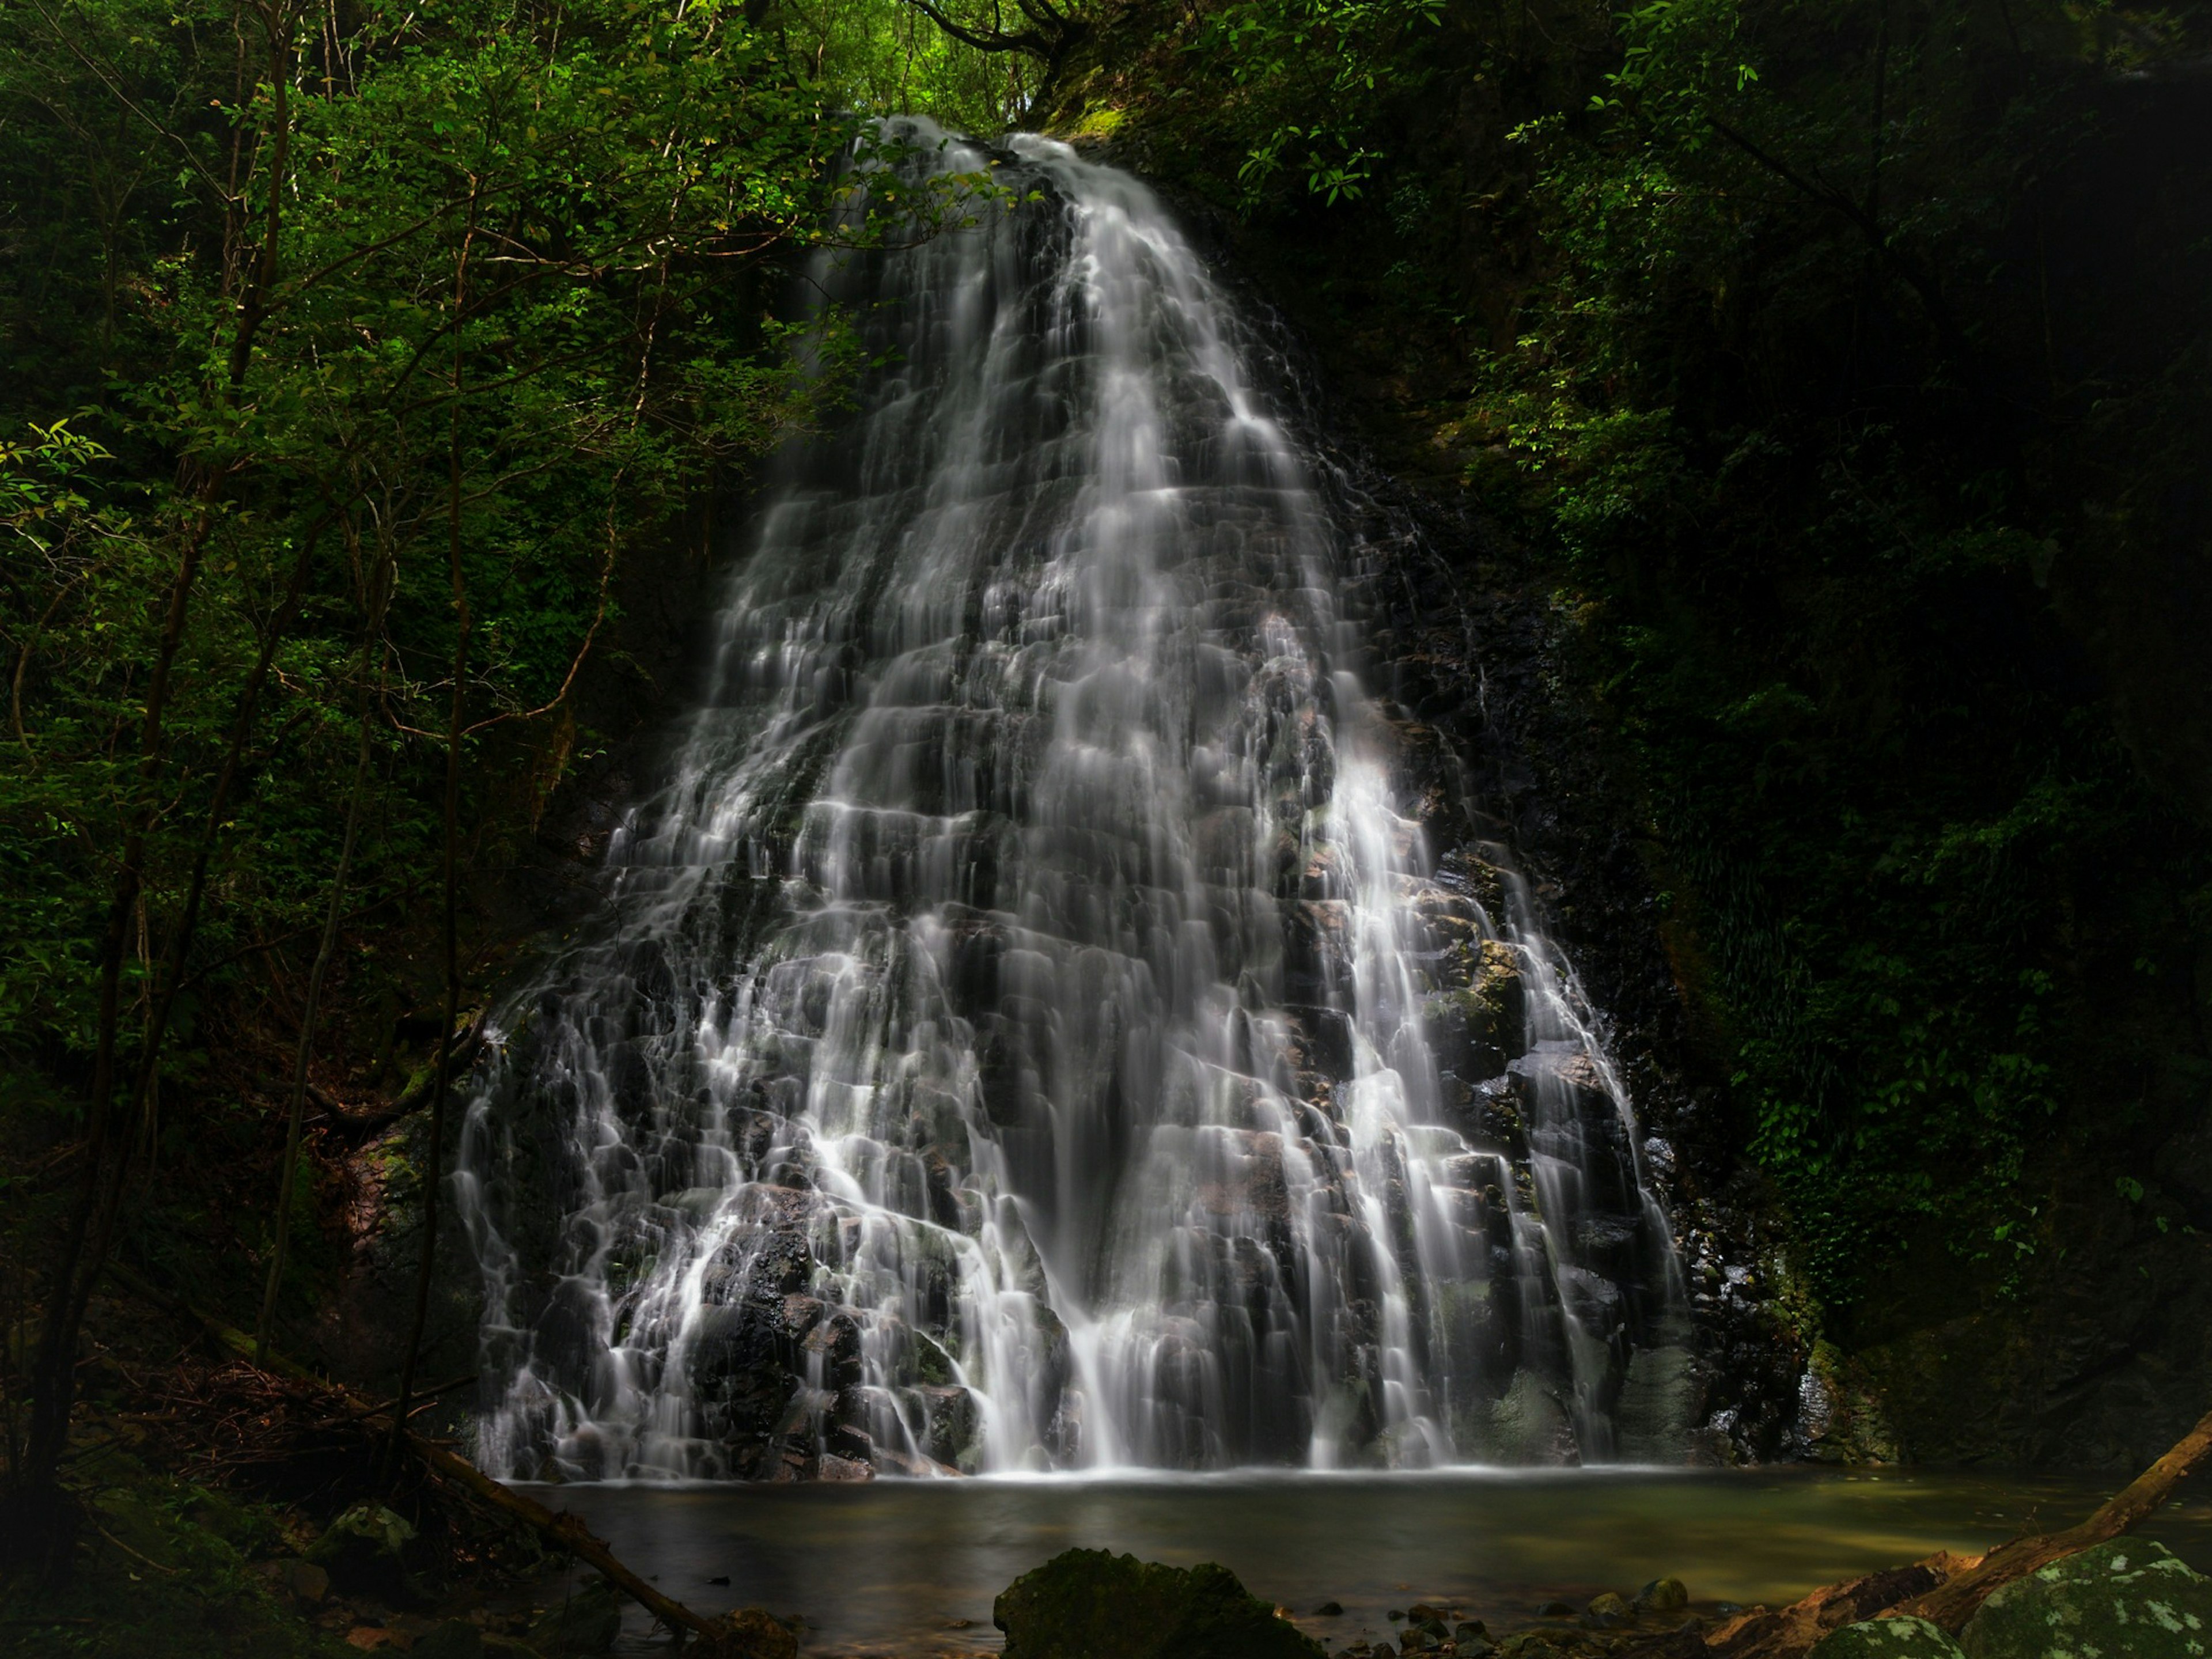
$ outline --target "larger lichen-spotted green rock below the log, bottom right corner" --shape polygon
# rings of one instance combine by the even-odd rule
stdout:
[[[1960,1632],[1966,1659],[2203,1659],[2212,1579],[2117,1537],[2006,1584]]]

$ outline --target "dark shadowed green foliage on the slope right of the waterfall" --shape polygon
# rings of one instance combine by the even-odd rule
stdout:
[[[1927,1232],[2002,1279],[2031,1148],[2097,1133],[2081,929],[2119,918],[2086,914],[2205,874],[2048,599],[2110,535],[2115,387],[2066,385],[2110,345],[2053,319],[2042,239],[2146,35],[1975,0],[1617,22],[1586,108],[1513,135],[1553,263],[1478,363],[1471,480],[1564,560],[1818,1292]],[[2208,319],[2157,325],[2181,363]]]

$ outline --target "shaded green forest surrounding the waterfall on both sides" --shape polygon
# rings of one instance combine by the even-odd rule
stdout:
[[[898,111],[1164,181],[1542,617],[1524,741],[1834,1449],[2161,1449],[2212,1380],[2208,53],[2053,0],[13,0],[11,1478],[108,1250],[414,1365],[411,1256],[383,1347],[332,1327],[420,1223],[378,1137],[438,1144],[719,504],[836,414],[790,274],[1002,210],[838,215]]]

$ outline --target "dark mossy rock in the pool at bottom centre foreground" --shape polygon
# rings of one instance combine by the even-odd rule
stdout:
[[[1009,1584],[991,1621],[1006,1632],[1004,1659],[1323,1659],[1212,1562],[1066,1551]]]

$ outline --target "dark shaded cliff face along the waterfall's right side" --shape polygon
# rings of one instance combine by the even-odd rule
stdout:
[[[1838,18],[1836,62],[1878,69]],[[1889,197],[1947,356],[1927,294],[1836,285],[1871,270],[1845,212],[1741,153],[1703,186],[1767,223],[1703,288],[1652,248],[1604,330],[1562,321],[1562,294],[1604,310],[1568,197],[1632,146],[1528,124],[1573,139],[1610,91],[1595,13],[1447,9],[1336,204],[1241,192],[1254,93],[1192,44],[1119,11],[1055,119],[1179,192],[1425,533],[1385,653],[1672,1148],[1710,1455],[2157,1455],[2212,1398],[2201,80],[2033,33],[1989,58],[1958,155]],[[2066,142],[1929,228],[2035,53]],[[1931,75],[1891,97],[1936,122]],[[1809,69],[1767,88],[1845,97]],[[1540,429],[1531,361],[1584,385],[1610,453]],[[1635,498],[1639,420],[1670,471]],[[1599,487],[1628,509],[1593,531]]]

